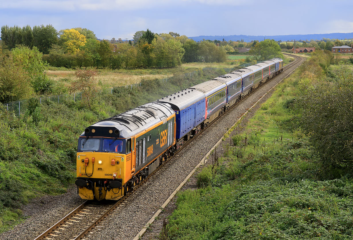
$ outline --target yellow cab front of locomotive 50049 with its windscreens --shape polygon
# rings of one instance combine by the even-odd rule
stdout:
[[[82,199],[118,200],[124,196],[125,139],[79,139],[76,156],[77,191]],[[85,150],[85,151],[82,151]]]

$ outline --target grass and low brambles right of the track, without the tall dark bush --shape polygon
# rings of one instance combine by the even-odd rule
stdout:
[[[316,151],[282,125],[298,74],[277,86],[219,164],[203,168],[202,188],[178,193],[160,239],[352,239],[352,179],[321,179]]]

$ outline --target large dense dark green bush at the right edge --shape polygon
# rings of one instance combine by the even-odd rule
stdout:
[[[304,73],[302,95],[295,100],[298,121],[317,148],[324,166],[353,169],[352,65],[341,65],[326,81]]]

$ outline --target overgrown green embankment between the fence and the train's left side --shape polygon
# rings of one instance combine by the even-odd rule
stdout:
[[[98,94],[91,108],[84,101],[42,99],[39,104],[34,99],[17,118],[0,106],[0,233],[23,221],[18,209],[30,199],[64,193],[73,184],[77,138],[87,126],[222,74],[224,70],[207,70],[167,83],[143,80],[141,88]]]

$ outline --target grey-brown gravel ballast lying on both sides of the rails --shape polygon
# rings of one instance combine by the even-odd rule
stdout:
[[[291,67],[292,70],[294,67]],[[85,239],[120,240],[134,238],[175,188],[179,186],[181,181],[201,161],[203,156],[239,119],[240,115],[287,74],[283,72],[253,92],[252,95],[241,101],[227,114],[221,116],[178,155],[175,155],[173,159],[162,166],[144,185],[134,191],[124,204],[120,205],[99,224],[100,228],[92,229]],[[269,96],[267,95],[267,97]],[[267,97],[263,98],[262,101],[265,101]],[[252,110],[252,112],[254,111]],[[247,115],[250,116],[252,112]],[[187,186],[189,185],[185,187]],[[70,188],[68,193],[60,196],[47,196],[43,197],[42,200],[37,199],[24,211],[28,212],[30,218],[14,229],[2,233],[0,239],[34,239],[82,202],[83,200],[76,194],[76,187]]]

